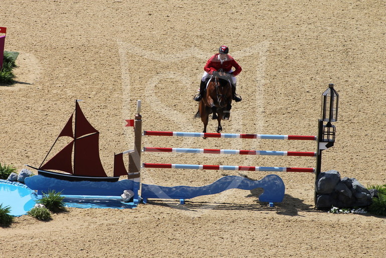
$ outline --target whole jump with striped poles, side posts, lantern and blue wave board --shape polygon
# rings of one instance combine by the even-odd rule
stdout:
[[[153,148],[144,147],[143,152],[163,153],[195,153],[195,154],[234,154],[234,155],[268,155],[268,156],[300,156],[316,157],[316,170],[314,168],[287,168],[287,167],[253,167],[253,166],[223,166],[223,165],[189,165],[189,164],[155,164],[143,163],[142,168],[168,168],[168,169],[198,169],[198,170],[233,170],[233,171],[272,171],[272,172],[307,172],[315,173],[316,177],[321,169],[321,151],[333,146],[335,141],[335,126],[331,122],[336,121],[338,95],[327,94],[333,90],[333,84],[322,94],[322,119],[318,123],[318,136],[293,136],[293,135],[255,135],[255,134],[222,134],[222,133],[188,133],[188,132],[162,132],[143,131],[143,136],[174,136],[174,137],[203,137],[203,138],[239,138],[239,139],[268,139],[268,140],[306,140],[317,141],[317,152],[289,152],[289,151],[248,151],[248,150],[220,150],[220,149],[190,149],[190,148]],[[327,92],[327,93],[326,93]],[[327,96],[327,97],[326,97]],[[327,105],[329,101],[329,105]],[[327,103],[327,104],[326,104]],[[134,151],[129,153],[129,173],[138,173],[141,156],[141,130],[142,120],[140,112],[140,100],[137,102],[137,113],[134,120],[128,121],[127,126],[134,126]],[[329,111],[329,118],[324,114]],[[331,113],[333,113],[331,115]],[[332,118],[331,118],[332,117]],[[324,125],[323,121],[327,121]],[[130,125],[129,125],[130,124]],[[240,176],[226,176],[216,182],[202,187],[174,186],[164,187],[158,185],[141,184],[141,197],[144,203],[148,198],[179,199],[184,204],[184,199],[190,199],[202,195],[220,193],[222,191],[238,188],[252,190],[263,188],[264,193],[259,196],[262,202],[281,202],[284,198],[285,187],[283,180],[277,175],[268,175],[261,180],[254,181]],[[133,189],[138,192],[139,189]],[[136,195],[137,196],[137,195]],[[134,197],[135,198],[135,197]],[[315,200],[316,205],[316,200]]]

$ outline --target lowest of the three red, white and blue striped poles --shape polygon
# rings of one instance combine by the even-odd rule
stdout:
[[[143,168],[163,168],[163,169],[244,170],[244,171],[307,172],[307,173],[315,172],[314,168],[249,167],[249,166],[189,165],[189,164],[159,164],[159,163],[142,163],[142,167]]]

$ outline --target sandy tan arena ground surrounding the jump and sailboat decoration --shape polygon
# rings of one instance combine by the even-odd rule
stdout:
[[[321,94],[340,95],[336,143],[322,170],[385,184],[384,1],[2,0],[6,50],[20,52],[18,83],[0,87],[0,162],[39,166],[75,99],[101,133],[102,163],[132,149],[143,128],[201,132],[193,116],[203,66],[220,45],[243,67],[223,133],[316,135]],[[209,132],[216,122],[210,121]],[[314,151],[315,142],[147,137],[147,147]],[[314,158],[148,154],[148,163],[315,167]],[[111,172],[109,172],[111,174]],[[232,171],[146,169],[144,183],[207,185]],[[248,172],[253,179],[267,173]],[[314,175],[278,173],[276,207],[229,190],[135,209],[77,209],[49,222],[29,216],[0,228],[2,257],[382,257],[386,220],[314,209]]]

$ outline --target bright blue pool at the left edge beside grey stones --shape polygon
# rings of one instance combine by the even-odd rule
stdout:
[[[27,214],[34,207],[36,200],[35,191],[27,186],[18,182],[0,180],[0,204],[3,208],[11,207],[10,215],[22,216]]]

